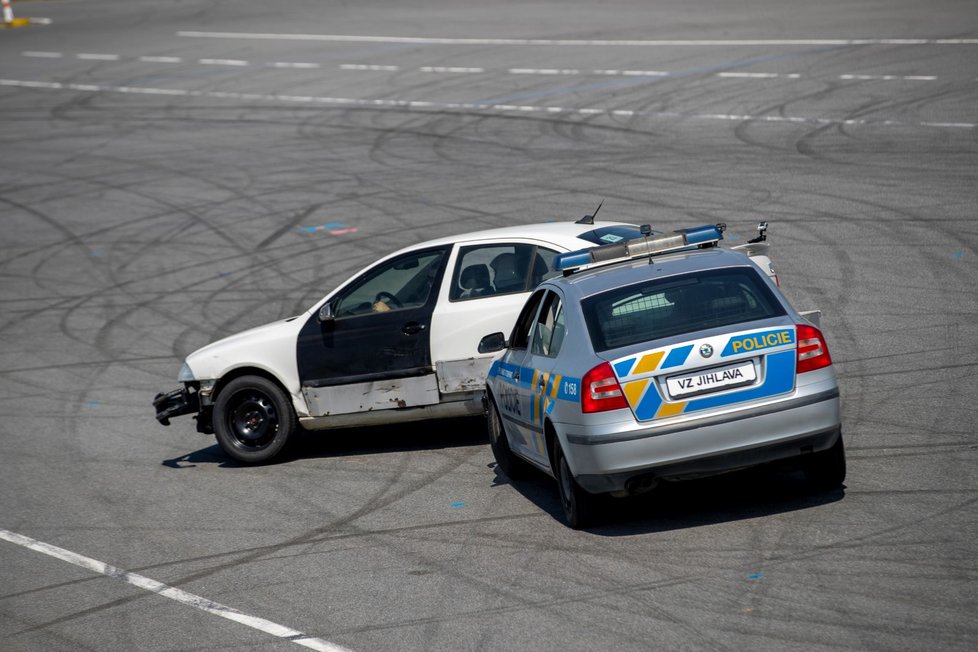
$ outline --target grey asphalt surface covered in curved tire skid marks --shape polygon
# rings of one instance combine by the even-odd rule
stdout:
[[[973,1],[13,7],[50,23],[0,31],[0,649],[978,647]],[[844,490],[761,469],[576,532],[480,420],[245,468],[153,419],[184,355],[380,254],[601,200],[771,223]]]

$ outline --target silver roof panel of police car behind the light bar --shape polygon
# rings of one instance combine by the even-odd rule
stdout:
[[[689,249],[653,256],[650,264],[648,256],[631,258],[621,262],[596,265],[582,269],[568,276],[555,277],[546,281],[563,285],[580,297],[591,296],[605,290],[640,283],[650,278],[661,278],[699,272],[720,267],[756,267],[751,259],[739,251],[710,247],[709,249]]]

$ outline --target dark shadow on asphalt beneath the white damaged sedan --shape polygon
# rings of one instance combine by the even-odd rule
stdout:
[[[440,448],[488,445],[484,417],[433,419],[392,426],[342,428],[332,431],[299,431],[298,438],[288,451],[269,464],[281,464],[297,459],[375,455]],[[198,464],[216,464],[221,468],[243,468],[214,443],[192,453],[163,460],[162,465],[174,469]]]

